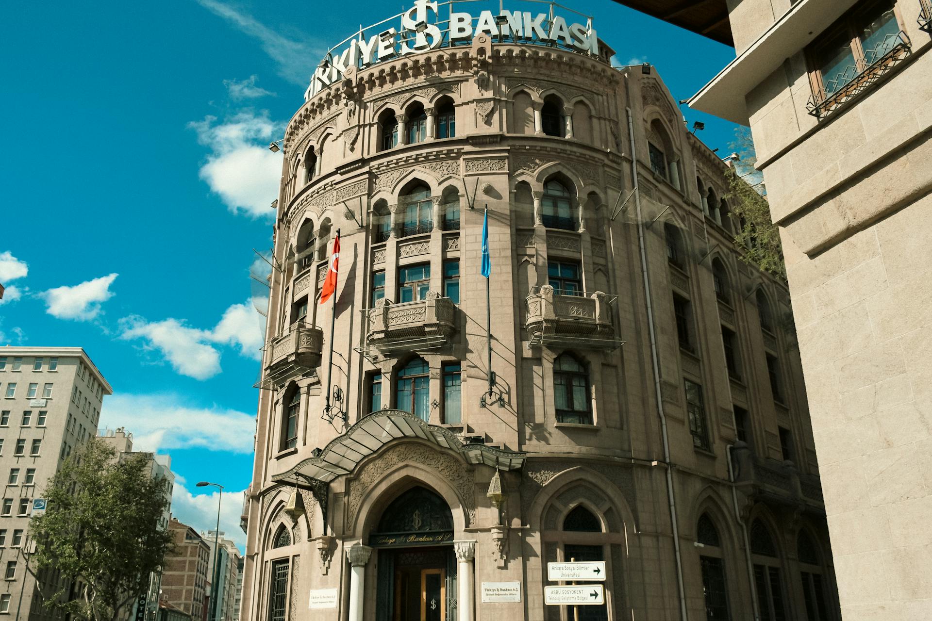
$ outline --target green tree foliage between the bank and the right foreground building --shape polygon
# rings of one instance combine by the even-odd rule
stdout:
[[[735,134],[732,146],[741,159],[726,173],[728,194],[724,196],[737,231],[734,242],[742,250],[741,258],[745,263],[786,280],[787,267],[783,262],[780,231],[770,215],[770,203],[767,202],[761,173],[754,169],[757,156],[750,130],[739,128]]]

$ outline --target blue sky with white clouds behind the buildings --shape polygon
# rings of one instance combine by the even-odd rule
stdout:
[[[678,100],[733,58],[609,0],[567,4]],[[0,24],[0,344],[85,347],[115,389],[102,427],[171,454],[173,512],[199,529],[216,498],[194,483],[226,485],[221,528],[240,545],[262,344],[249,274],[271,244],[281,167],[266,145],[326,48],[403,8],[321,6],[15,3]],[[728,152],[733,126],[683,110]]]

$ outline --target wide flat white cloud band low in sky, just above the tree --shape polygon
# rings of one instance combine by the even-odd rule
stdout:
[[[137,451],[200,448],[248,454],[253,452],[255,417],[216,405],[196,407],[174,394],[117,393],[104,400],[99,426],[126,427]]]

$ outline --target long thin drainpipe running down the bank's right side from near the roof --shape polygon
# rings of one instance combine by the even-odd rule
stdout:
[[[627,75],[625,75],[627,78]],[[627,82],[625,81],[627,87]],[[631,93],[625,88],[630,106]],[[641,275],[644,277],[644,297],[647,301],[647,326],[651,336],[651,366],[653,368],[653,383],[657,399],[657,414],[660,416],[661,436],[664,440],[664,462],[666,464],[666,497],[670,506],[670,523],[673,527],[673,552],[677,560],[677,587],[679,594],[679,617],[688,621],[686,612],[686,588],[683,586],[683,560],[679,550],[679,526],[677,520],[677,497],[673,487],[673,465],[670,462],[670,442],[666,431],[666,414],[664,413],[664,396],[660,386],[660,363],[657,356],[657,335],[653,329],[653,305],[651,304],[651,278],[647,270],[647,250],[644,245],[644,222],[641,218],[640,191],[637,183],[637,152],[635,150],[635,128],[631,108],[625,107],[628,116],[628,136],[631,139],[631,174],[635,184],[635,209],[637,212],[637,247],[640,250]]]

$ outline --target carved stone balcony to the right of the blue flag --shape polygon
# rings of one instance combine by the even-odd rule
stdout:
[[[535,288],[528,295],[525,324],[530,344],[615,349],[623,344],[611,320],[615,299],[601,291],[568,295],[550,286]]]

